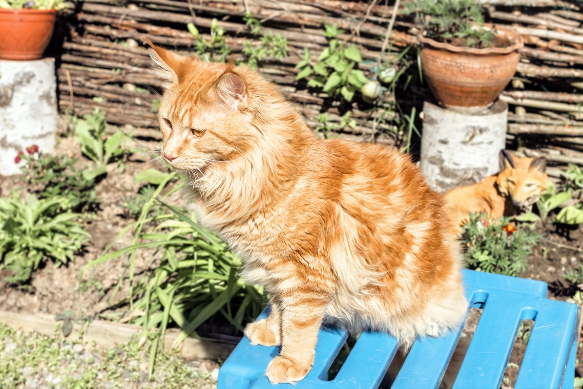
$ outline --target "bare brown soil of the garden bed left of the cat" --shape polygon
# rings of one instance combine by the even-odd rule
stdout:
[[[144,143],[142,143],[144,145]],[[145,143],[148,146],[148,143]],[[156,142],[149,144],[151,148]],[[67,153],[71,157],[80,157],[78,142],[74,137],[62,138],[57,146],[57,153]],[[124,227],[134,222],[124,216],[122,203],[124,199],[138,195],[142,184],[135,183],[139,171],[157,167],[164,171],[163,164],[147,163],[153,157],[146,152],[134,153],[123,166],[110,164],[107,175],[96,185],[96,197],[100,199],[99,209],[93,218],[85,222],[92,239],[75,256],[75,261],[67,265],[57,266],[52,262],[33,273],[30,284],[24,288],[6,285],[0,277],[0,310],[24,311],[27,313],[59,314],[66,310],[74,311],[79,317],[97,317],[106,311],[110,304],[118,302],[127,292],[127,282],[122,283],[120,291],[114,300],[108,299],[120,280],[124,269],[128,267],[126,258],[117,258],[89,269],[83,276],[85,282],[79,282],[80,270],[90,261],[98,258],[108,244]],[[80,162],[81,163],[81,162]],[[85,162],[83,162],[85,163]],[[9,192],[22,187],[19,176],[0,176],[0,196],[8,196]],[[26,190],[22,191],[26,195]],[[180,198],[173,198],[173,203]],[[181,204],[184,205],[184,204]],[[112,247],[113,250],[129,246],[131,235],[126,234]],[[136,274],[143,272],[148,266],[147,252],[136,257]]]

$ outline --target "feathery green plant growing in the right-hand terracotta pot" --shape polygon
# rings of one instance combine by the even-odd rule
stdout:
[[[489,47],[494,33],[484,29],[482,6],[477,0],[415,0],[406,13],[415,14],[427,37],[454,45]]]

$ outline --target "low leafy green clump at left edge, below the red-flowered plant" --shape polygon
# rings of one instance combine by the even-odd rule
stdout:
[[[31,195],[23,201],[12,192],[9,199],[0,198],[0,269],[12,273],[7,282],[26,282],[42,261],[59,265],[73,260],[90,234],[70,207],[68,199],[58,196],[39,200]]]

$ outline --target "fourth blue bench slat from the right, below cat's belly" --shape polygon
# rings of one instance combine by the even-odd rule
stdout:
[[[363,332],[336,375],[334,387],[378,388],[396,351],[395,338],[379,332]]]

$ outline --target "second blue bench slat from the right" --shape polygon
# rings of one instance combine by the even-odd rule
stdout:
[[[521,321],[522,304],[490,293],[454,389],[497,389]]]

